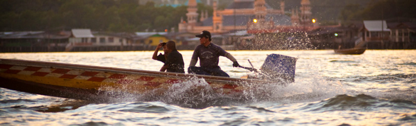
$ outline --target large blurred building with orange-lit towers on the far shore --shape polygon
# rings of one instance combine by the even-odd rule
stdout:
[[[212,7],[211,17],[208,17],[206,10],[201,10],[201,18],[198,19],[197,2],[189,0],[187,20],[182,18],[179,22],[179,32],[200,33],[207,30],[214,34],[221,34],[247,30],[247,25],[256,18],[272,21],[274,25],[292,25],[291,17],[285,15],[284,1],[281,2],[280,9],[273,9],[264,0],[234,0],[224,10],[219,10],[216,0],[213,0]],[[259,13],[263,17],[257,17]]]

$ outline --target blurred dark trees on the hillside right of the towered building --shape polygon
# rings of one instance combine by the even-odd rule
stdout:
[[[282,0],[266,0],[279,8]],[[299,9],[301,0],[284,0],[285,10]],[[339,21],[392,20],[415,21],[416,0],[310,0],[312,18],[323,25]],[[290,14],[288,14],[290,15]]]

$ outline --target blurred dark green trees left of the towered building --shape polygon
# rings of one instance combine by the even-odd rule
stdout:
[[[1,31],[88,28],[96,31],[168,31],[176,28],[187,6],[144,5],[137,0],[0,0]],[[200,10],[212,7],[198,4]]]

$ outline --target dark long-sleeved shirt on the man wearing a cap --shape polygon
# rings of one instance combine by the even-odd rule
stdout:
[[[195,48],[192,59],[198,60],[199,57],[201,67],[217,68],[219,56],[225,56],[226,53],[224,49],[214,43],[208,44],[207,47],[200,44]]]

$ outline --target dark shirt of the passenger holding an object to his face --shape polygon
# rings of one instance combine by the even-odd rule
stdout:
[[[185,73],[182,54],[176,49],[167,55],[164,65],[167,66],[166,72]]]

